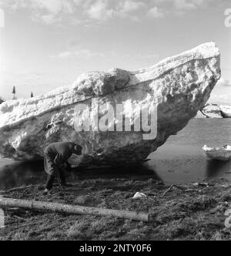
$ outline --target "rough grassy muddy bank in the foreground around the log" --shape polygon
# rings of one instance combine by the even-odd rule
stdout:
[[[42,195],[42,185],[2,191],[4,197],[79,204],[156,214],[143,223],[115,217],[67,216],[32,211],[5,211],[1,240],[230,240],[225,211],[231,209],[231,183],[209,181],[209,187],[171,187],[154,179],[79,180],[74,187]],[[137,192],[145,200],[132,200]]]

